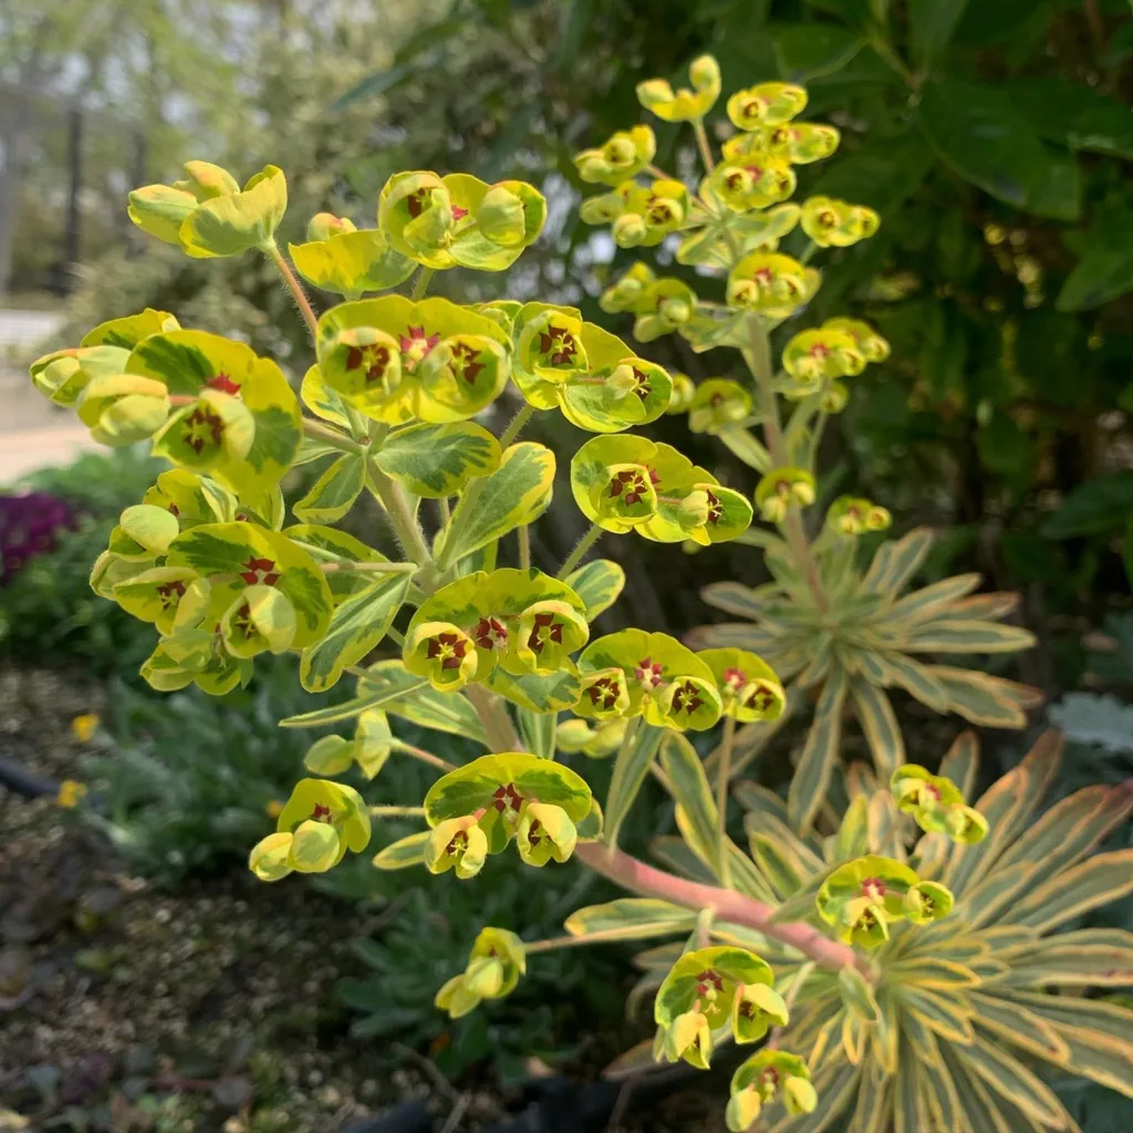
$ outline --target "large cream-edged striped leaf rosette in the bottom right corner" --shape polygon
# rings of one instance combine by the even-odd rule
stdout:
[[[1133,1096],[1133,1012],[1105,998],[1106,988],[1133,980],[1133,934],[1074,927],[1133,888],[1131,851],[1093,852],[1127,820],[1133,793],[1085,787],[1043,812],[1060,747],[1048,733],[976,802],[990,830],[978,844],[917,837],[893,795],[860,767],[847,778],[851,802],[833,837],[778,843],[780,863],[789,862],[774,883],[781,913],[801,908],[835,851],[851,849],[908,854],[955,896],[938,923],[894,928],[872,953],[872,987],[845,970],[811,972],[801,985],[783,1041],[813,1068],[829,1121],[849,1117],[847,1128],[860,1133],[1074,1128],[1043,1081],[1059,1071]],[[966,791],[978,764],[969,734],[942,772]],[[780,830],[784,812],[765,792],[746,801],[755,804],[753,828]],[[1090,988],[1102,996],[1088,997]]]

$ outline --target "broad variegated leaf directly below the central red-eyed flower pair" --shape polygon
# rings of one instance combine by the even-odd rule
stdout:
[[[414,495],[455,495],[475,476],[500,467],[500,442],[475,421],[410,425],[391,433],[374,461]]]

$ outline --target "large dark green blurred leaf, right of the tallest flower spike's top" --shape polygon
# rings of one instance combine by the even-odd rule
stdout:
[[[964,180],[1038,216],[1077,220],[1077,164],[1046,147],[1004,92],[957,79],[930,83],[918,121],[937,156]]]

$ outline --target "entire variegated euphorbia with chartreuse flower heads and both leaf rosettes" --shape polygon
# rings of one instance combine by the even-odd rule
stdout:
[[[333,869],[376,828],[374,866],[419,869],[425,884],[500,868],[489,859],[513,847],[525,868],[581,860],[632,894],[576,910],[544,940],[470,926],[468,964],[436,996],[453,1017],[509,995],[543,952],[649,940],[631,1006],[651,998],[654,1037],[611,1072],[707,1067],[721,1047],[758,1045],[722,1099],[734,1133],[843,1115],[858,1133],[1071,1128],[1030,1066],[1130,1091],[1133,1016],[1077,991],[1127,974],[1133,937],[1047,934],[1128,892],[1128,851],[1090,857],[1128,792],[1085,789],[1038,817],[1051,738],[974,804],[971,736],[936,772],[910,763],[889,690],[997,727],[1023,726],[1036,695],[939,659],[1026,647],[1002,624],[1013,596],[976,594],[976,576],[910,590],[929,534],[888,539],[884,506],[821,491],[823,432],[889,348],[869,323],[820,322],[809,304],[824,257],[855,254],[881,218],[793,199],[799,168],[840,142],[808,120],[801,86],[725,96],[705,56],[638,97],[641,121],[576,156],[581,214],[623,249],[672,256],[664,272],[620,267],[598,303],[647,352],[670,333],[697,355],[731,348],[697,381],[579,307],[429,293],[436,273],[504,272],[539,238],[546,201],[525,181],[399,172],[351,216],[298,220],[274,165],[241,185],[194,161],[131,193],[131,220],[188,256],[267,257],[310,342],[284,368],[146,309],[33,364],[35,386],[96,441],[147,441],[169,465],[120,516],[91,583],[153,624],[142,673],[155,689],[223,695],[262,654],[292,655],[310,692],[350,684],[281,721],[320,732],[250,850],[258,878]],[[654,118],[684,130],[678,168],[699,156],[697,176],[659,168]],[[580,435],[540,432],[547,415]],[[725,478],[658,440],[663,415],[670,440],[683,419],[701,460],[713,438],[750,475]],[[539,440],[552,433],[573,448]],[[292,492],[306,466],[309,487]],[[560,516],[588,527],[564,562],[535,564],[529,528],[556,479],[570,486]],[[364,496],[392,554],[359,522]],[[770,580],[706,587],[740,620],[683,637],[606,627],[596,620],[627,585],[623,538],[758,548]],[[610,557],[590,557],[599,539]],[[806,716],[785,799],[739,778]],[[843,765],[851,719],[872,766]],[[431,747],[399,736],[401,721]],[[453,735],[479,753],[453,756]],[[391,758],[431,770],[424,799],[382,798]],[[600,799],[596,760],[611,765]],[[672,823],[654,824],[674,830],[651,843],[657,864],[619,846],[650,780],[674,803]],[[420,828],[382,837],[393,818]]]

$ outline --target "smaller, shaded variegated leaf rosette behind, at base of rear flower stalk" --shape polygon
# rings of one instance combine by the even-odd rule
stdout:
[[[792,780],[792,824],[810,829],[838,763],[846,709],[858,721],[879,775],[906,763],[905,743],[888,689],[901,689],[936,712],[973,724],[1020,729],[1038,689],[973,668],[940,664],[940,655],[1013,653],[1033,636],[1000,624],[1015,607],[1011,594],[973,594],[978,574],[959,574],[909,590],[932,544],[918,528],[880,544],[868,565],[855,559],[855,540],[830,533],[816,544],[829,606],[819,610],[811,588],[792,565],[777,536],[760,535],[774,581],[752,589],[738,582],[705,587],[709,605],[747,621],[701,625],[688,640],[696,648],[735,646],[759,654],[789,692],[799,714],[817,697],[810,730]],[[908,593],[906,593],[908,591]],[[921,655],[928,655],[921,659]],[[792,695],[793,693],[793,695]],[[769,736],[736,735],[733,767],[753,758]]]

